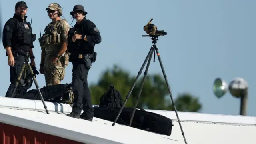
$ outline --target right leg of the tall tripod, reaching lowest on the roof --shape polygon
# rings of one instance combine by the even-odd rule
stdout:
[[[161,60],[160,53],[159,53],[159,51],[158,51],[157,46],[155,46],[155,50],[156,50],[156,54],[157,54],[157,57],[158,57],[158,60],[159,60],[159,63],[160,63],[160,66],[161,66],[163,75],[164,75],[164,79],[165,79],[166,85],[167,85],[167,87],[168,87],[168,91],[169,91],[169,94],[170,94],[170,97],[171,97],[171,100],[172,100],[172,105],[173,105],[173,107],[174,107],[174,111],[175,111],[175,113],[176,113],[176,116],[177,116],[177,119],[178,119],[178,122],[179,122],[179,125],[180,125],[180,130],[181,130],[181,132],[182,132],[182,136],[183,136],[183,138],[184,138],[185,143],[187,144],[187,141],[186,141],[186,138],[185,138],[185,134],[184,134],[184,132],[183,132],[183,129],[182,129],[182,126],[181,126],[181,123],[180,123],[180,118],[179,118],[179,116],[178,116],[178,112],[177,112],[176,106],[175,106],[175,104],[174,104],[174,100],[173,100],[173,98],[172,98],[172,92],[171,92],[171,89],[170,89],[170,86],[169,86],[169,83],[168,83],[168,80],[167,80],[166,73],[165,73],[165,71],[164,71],[164,66],[163,66],[163,64],[162,64],[162,60]]]

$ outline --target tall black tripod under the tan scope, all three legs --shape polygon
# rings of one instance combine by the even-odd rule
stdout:
[[[137,82],[137,80],[138,80],[140,74],[142,73],[142,70],[144,69],[144,67],[145,67],[145,65],[146,65],[146,62],[148,61],[147,66],[146,66],[146,70],[145,70],[145,72],[144,72],[144,76],[143,76],[143,79],[142,79],[142,84],[141,84],[141,86],[140,86],[140,91],[139,91],[139,94],[138,94],[138,97],[137,97],[138,100],[136,101],[136,104],[135,104],[135,106],[134,106],[134,110],[133,110],[133,112],[132,112],[132,116],[131,116],[131,119],[130,119],[129,126],[131,126],[132,120],[133,120],[133,117],[134,117],[134,113],[135,113],[135,111],[136,111],[136,108],[137,108],[137,105],[138,105],[138,102],[139,102],[139,99],[140,99],[140,94],[141,94],[141,92],[142,92],[142,88],[143,88],[143,85],[144,85],[144,81],[145,81],[146,75],[147,75],[147,73],[148,73],[148,68],[149,68],[149,65],[150,65],[150,61],[151,61],[153,52],[154,52],[154,58],[155,58],[155,52],[156,52],[156,54],[157,54],[157,56],[158,56],[158,60],[159,60],[160,66],[161,66],[161,69],[162,69],[162,72],[163,72],[163,75],[164,75],[164,79],[165,79],[166,84],[167,84],[167,86],[168,86],[168,91],[169,91],[169,94],[170,94],[170,97],[171,97],[171,100],[172,100],[172,105],[174,106],[174,110],[175,110],[175,113],[176,113],[176,116],[177,116],[177,119],[178,119],[178,123],[179,123],[179,125],[180,125],[180,130],[181,130],[181,132],[182,132],[182,136],[183,136],[183,138],[184,138],[185,143],[187,144],[186,138],[185,138],[185,134],[184,134],[184,132],[183,132],[183,129],[182,129],[182,126],[181,126],[181,123],[180,123],[180,118],[179,118],[179,116],[178,116],[178,112],[177,112],[176,106],[175,106],[175,104],[174,104],[174,100],[173,100],[173,98],[172,98],[172,93],[171,93],[170,86],[169,86],[168,81],[167,81],[167,76],[166,76],[166,73],[165,73],[165,71],[164,71],[164,66],[163,66],[163,64],[162,64],[162,60],[161,60],[161,57],[160,57],[158,48],[157,48],[157,46],[156,46],[156,42],[158,41],[158,37],[159,37],[159,36],[155,36],[155,35],[145,35],[145,36],[151,37],[151,40],[152,40],[153,45],[151,46],[150,51],[148,52],[148,55],[147,55],[146,59],[144,60],[142,66],[141,66],[141,68],[140,68],[140,71],[138,72],[138,75],[137,75],[137,77],[135,78],[134,83],[133,83],[133,85],[132,85],[130,91],[128,92],[128,95],[126,96],[126,98],[125,98],[125,100],[124,100],[124,104],[123,104],[122,108],[120,109],[120,111],[118,112],[118,115],[116,116],[116,119],[114,120],[114,123],[112,124],[112,126],[114,126],[115,123],[116,123],[116,121],[118,120],[118,118],[119,118],[119,116],[120,116],[120,114],[121,114],[121,112],[122,112],[122,110],[123,110],[123,108],[124,108],[124,106],[125,106],[125,104],[126,104],[128,98],[130,97],[130,94],[132,93],[132,90],[133,90],[134,86],[136,85],[136,82]]]

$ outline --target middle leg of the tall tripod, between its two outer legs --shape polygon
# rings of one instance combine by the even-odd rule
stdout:
[[[148,74],[148,68],[149,68],[149,66],[150,66],[150,61],[151,61],[152,55],[153,55],[153,53],[152,53],[152,54],[149,56],[149,58],[148,58],[148,63],[147,63],[147,66],[146,66],[146,70],[145,70],[145,72],[144,72],[144,76],[143,76],[142,81],[141,81],[140,91],[139,91],[139,93],[138,93],[137,101],[136,101],[136,104],[135,104],[135,106],[134,106],[134,108],[133,108],[133,111],[132,111],[132,116],[131,116],[131,119],[130,119],[129,126],[132,126],[132,120],[133,120],[133,117],[134,117],[136,108],[137,108],[138,103],[139,103],[139,100],[140,100],[140,95],[141,95],[142,88],[143,88],[143,85],[144,85],[144,82],[145,82],[145,78],[146,78],[146,76],[147,76],[147,74]]]

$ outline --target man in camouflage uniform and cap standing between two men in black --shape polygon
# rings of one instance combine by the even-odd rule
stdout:
[[[49,18],[52,20],[44,29],[44,34],[39,38],[41,46],[40,73],[44,74],[46,86],[60,84],[65,76],[65,68],[68,65],[67,38],[69,24],[61,19],[61,6],[57,3],[49,4],[46,8]],[[54,101],[60,102],[61,98]],[[68,102],[69,96],[62,102]]]

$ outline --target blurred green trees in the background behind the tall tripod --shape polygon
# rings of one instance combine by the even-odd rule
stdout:
[[[98,105],[100,97],[104,92],[108,91],[110,85],[114,85],[116,90],[121,93],[122,98],[125,99],[135,78],[136,76],[131,76],[127,70],[116,65],[114,65],[113,68],[106,69],[98,82],[90,85],[92,103]],[[133,108],[136,104],[142,78],[143,74],[134,86],[126,102],[126,107]],[[199,100],[189,94],[178,96],[175,100],[175,104],[178,111],[198,112],[202,107]],[[147,74],[137,107],[155,110],[174,110],[166,82],[162,75]]]

